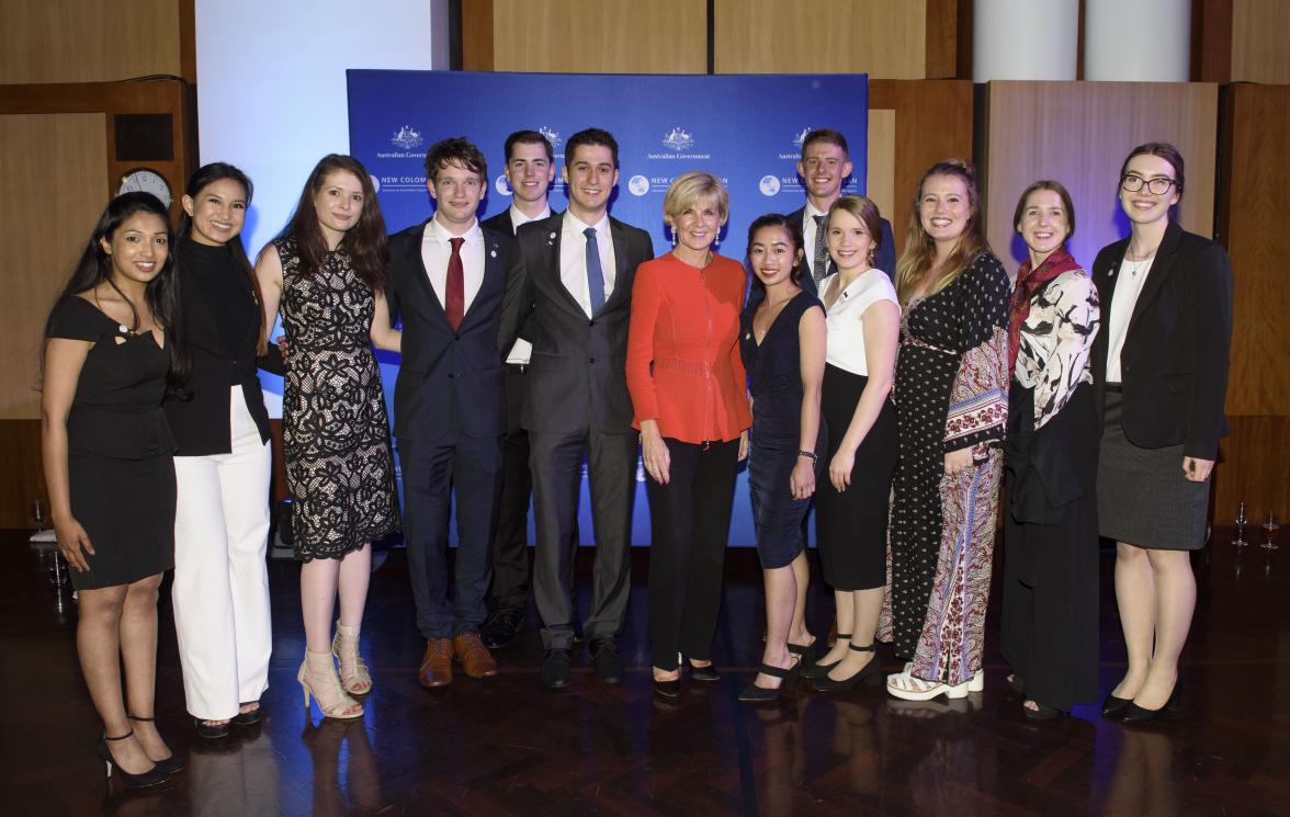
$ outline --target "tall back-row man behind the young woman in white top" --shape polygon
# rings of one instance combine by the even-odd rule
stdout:
[[[842,195],[842,182],[851,175],[851,153],[846,147],[846,137],[836,130],[819,128],[802,139],[802,157],[797,162],[797,173],[806,183],[806,204],[788,218],[799,222],[802,228],[802,249],[810,276],[802,276],[802,289],[815,293],[824,276],[837,271],[828,256],[824,235],[819,229],[828,209]],[[891,222],[882,222],[882,241],[873,259],[873,265],[895,278],[895,242],[891,237]],[[756,287],[755,287],[756,289]]]

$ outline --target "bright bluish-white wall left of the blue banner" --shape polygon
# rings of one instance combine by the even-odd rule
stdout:
[[[446,0],[197,0],[196,35],[201,162],[254,182],[253,255],[317,160],[348,152],[347,68],[448,68]]]

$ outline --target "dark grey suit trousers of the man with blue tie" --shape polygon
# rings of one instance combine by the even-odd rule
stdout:
[[[596,562],[591,615],[582,626],[592,647],[613,642],[623,629],[632,579],[632,503],[639,451],[635,433],[606,434],[596,428],[571,433],[529,432],[529,472],[538,527],[533,598],[542,616],[542,644],[547,649],[573,647],[571,561],[575,550],[570,541],[575,541],[583,456],[591,483]]]

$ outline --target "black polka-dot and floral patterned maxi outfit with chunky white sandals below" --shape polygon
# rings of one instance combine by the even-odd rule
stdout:
[[[982,253],[900,316],[890,581],[878,638],[911,674],[951,686],[980,669],[1007,420],[1007,273]],[[949,451],[975,468],[946,474]]]

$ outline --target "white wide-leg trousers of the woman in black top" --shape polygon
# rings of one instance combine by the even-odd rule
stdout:
[[[223,720],[268,688],[270,478],[240,385],[230,396],[232,452],[174,457],[174,628],[188,714]]]

